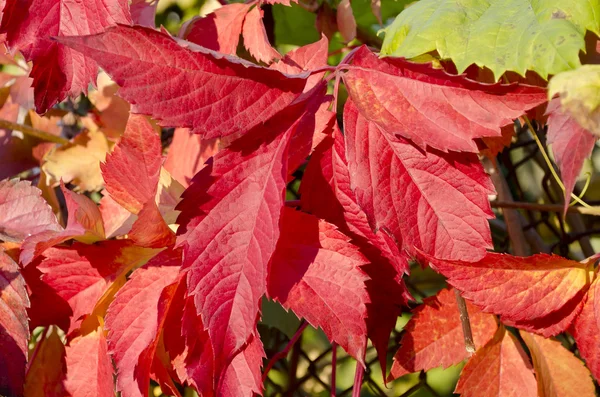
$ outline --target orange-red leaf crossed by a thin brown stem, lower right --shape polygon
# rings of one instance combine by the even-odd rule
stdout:
[[[494,336],[496,320],[469,302],[467,310],[475,347],[480,348]],[[426,298],[413,314],[404,327],[388,381],[416,371],[446,368],[469,357],[454,291],[443,289]]]

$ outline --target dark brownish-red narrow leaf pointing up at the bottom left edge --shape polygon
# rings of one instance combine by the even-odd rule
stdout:
[[[46,334],[42,334],[29,360],[24,393],[27,397],[67,395],[64,385],[67,374],[65,345],[56,327],[52,327],[49,335]]]

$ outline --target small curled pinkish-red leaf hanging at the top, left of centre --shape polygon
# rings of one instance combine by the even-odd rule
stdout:
[[[256,5],[244,19],[242,35],[244,36],[244,46],[248,49],[250,55],[257,61],[268,65],[273,60],[281,58],[281,54],[269,43],[262,18],[263,11]]]

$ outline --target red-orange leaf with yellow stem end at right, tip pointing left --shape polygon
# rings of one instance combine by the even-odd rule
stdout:
[[[546,337],[563,332],[581,311],[591,268],[556,255],[493,252],[479,262],[427,257],[434,270],[483,311]]]

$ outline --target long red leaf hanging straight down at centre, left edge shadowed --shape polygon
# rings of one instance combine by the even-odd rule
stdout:
[[[255,330],[279,237],[290,135],[303,110],[290,107],[219,152],[178,206],[188,295],[218,354],[217,379]]]

